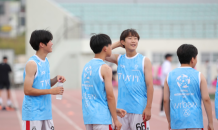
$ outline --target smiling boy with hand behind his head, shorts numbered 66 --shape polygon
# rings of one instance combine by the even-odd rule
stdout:
[[[126,54],[112,54],[106,60],[117,64],[118,101],[117,108],[127,111],[118,117],[122,130],[150,130],[151,104],[153,99],[152,65],[150,60],[137,53],[139,34],[134,29],[124,30],[120,41],[112,49],[124,47]]]

